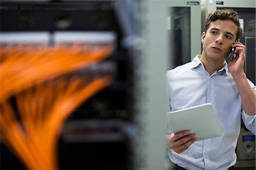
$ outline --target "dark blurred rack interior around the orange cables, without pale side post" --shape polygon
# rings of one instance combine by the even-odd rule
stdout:
[[[95,34],[99,39],[104,37],[101,33],[106,32],[115,37],[115,52],[105,61],[116,67],[114,82],[82,103],[65,122],[58,144],[60,169],[130,169],[134,166],[133,96],[129,93],[133,91],[130,86],[133,66],[127,49],[121,44],[123,37],[133,33],[133,25],[123,26],[116,6],[115,1],[1,1],[2,35],[47,32],[49,44],[58,41],[58,34],[64,34],[59,41],[65,41],[69,33],[70,39],[76,41],[72,33],[80,32],[81,35]],[[127,6],[122,7],[126,10]],[[132,21],[127,14],[123,17]],[[13,155],[1,142],[1,168],[24,168],[22,163],[16,164],[18,160],[10,158]]]

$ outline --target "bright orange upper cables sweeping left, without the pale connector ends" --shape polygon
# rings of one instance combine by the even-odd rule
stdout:
[[[10,59],[10,62],[6,60],[0,66],[0,79],[9,79],[10,81],[1,81],[2,96],[0,101],[22,91],[23,88],[28,88],[31,86],[30,82],[40,83],[45,78],[51,79],[52,75],[66,74],[92,65],[108,57],[112,51],[111,46],[104,46],[90,53],[79,53],[75,46],[73,52],[69,53],[61,52],[61,50],[53,50],[53,54],[43,52],[41,55],[28,52],[20,59]],[[30,60],[34,62],[32,63]],[[20,77],[23,78],[20,79]],[[9,82],[12,83],[9,84]]]

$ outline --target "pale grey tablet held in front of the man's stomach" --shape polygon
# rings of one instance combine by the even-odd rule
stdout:
[[[213,105],[210,103],[167,113],[167,125],[173,133],[189,130],[197,141],[222,135]]]

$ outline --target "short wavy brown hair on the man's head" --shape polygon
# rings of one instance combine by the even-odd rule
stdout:
[[[221,10],[216,10],[213,13],[208,14],[207,20],[204,25],[204,32],[207,32],[207,29],[209,28],[209,25],[211,22],[214,22],[218,19],[221,20],[232,20],[236,25],[237,25],[237,36],[236,40],[240,39],[242,36],[242,28],[240,27],[240,22],[239,22],[239,16],[237,11],[234,11],[232,9],[221,9]]]

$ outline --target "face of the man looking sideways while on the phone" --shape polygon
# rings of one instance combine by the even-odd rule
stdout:
[[[202,56],[213,61],[224,61],[229,56],[231,44],[236,40],[237,25],[232,20],[211,22],[201,35]]]

